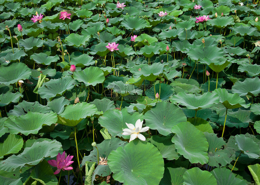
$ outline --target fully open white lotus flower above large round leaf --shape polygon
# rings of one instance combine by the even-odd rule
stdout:
[[[129,142],[130,141],[132,141],[132,140],[134,140],[135,138],[139,138],[140,140],[142,140],[142,141],[145,141],[145,137],[142,135],[142,134],[140,134],[140,132],[146,132],[148,129],[149,129],[149,127],[144,127],[144,128],[142,128],[142,126],[143,126],[143,121],[141,121],[140,119],[138,119],[136,122],[135,122],[135,126],[133,125],[133,124],[128,124],[128,123],[125,123],[126,125],[127,125],[127,127],[129,128],[125,128],[125,129],[123,129],[123,135],[126,135],[126,136],[128,136],[128,135],[131,135],[130,136],[130,140],[129,140]]]

